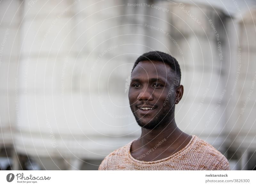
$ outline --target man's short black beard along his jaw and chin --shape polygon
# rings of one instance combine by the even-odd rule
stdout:
[[[147,128],[150,130],[165,128],[174,119],[171,118],[171,116],[175,110],[175,100],[169,99],[166,105],[162,107],[162,109],[157,113],[157,115],[147,123],[144,123],[142,120],[140,120],[140,118],[138,118],[138,116],[136,115],[135,111],[132,108],[131,110],[135,117],[135,120],[137,121],[140,127]]]

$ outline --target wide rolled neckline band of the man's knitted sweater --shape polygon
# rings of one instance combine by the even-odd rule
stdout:
[[[160,162],[163,162],[163,161],[166,161],[166,160],[171,160],[171,159],[174,159],[178,156],[181,156],[183,155],[184,153],[186,153],[190,148],[188,148],[189,146],[193,146],[194,143],[196,143],[196,139],[197,137],[195,135],[191,135],[192,138],[191,140],[189,141],[189,143],[183,148],[181,149],[180,151],[172,154],[171,156],[167,157],[167,158],[164,158],[164,159],[159,159],[159,160],[156,160],[156,161],[140,161],[138,159],[135,159],[132,157],[131,155],[131,146],[132,146],[132,143],[137,140],[137,139],[134,139],[132,140],[130,143],[127,144],[127,148],[125,149],[125,154],[128,156],[128,158],[130,160],[132,160],[133,163],[135,163],[136,165],[138,165],[139,163],[139,166],[147,166],[149,164],[156,164],[156,163],[160,163]]]

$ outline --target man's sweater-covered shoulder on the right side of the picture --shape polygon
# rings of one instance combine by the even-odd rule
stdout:
[[[190,153],[198,159],[197,165],[201,170],[230,170],[228,160],[212,145],[195,136]]]

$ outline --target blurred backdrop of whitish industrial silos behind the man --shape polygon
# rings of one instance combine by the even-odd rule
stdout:
[[[180,129],[221,151],[232,170],[255,170],[255,5],[2,0],[1,168],[97,170],[140,136],[129,75],[141,54],[161,50],[181,66]]]

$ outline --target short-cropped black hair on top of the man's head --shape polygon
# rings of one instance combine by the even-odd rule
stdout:
[[[138,65],[140,61],[160,61],[164,64],[167,64],[171,67],[171,69],[175,72],[176,78],[178,78],[179,82],[181,80],[181,71],[180,65],[178,61],[172,57],[170,54],[161,52],[161,51],[150,51],[147,53],[142,54],[134,63],[132,67],[132,71],[134,70],[135,66]]]

